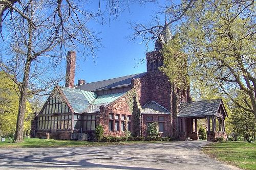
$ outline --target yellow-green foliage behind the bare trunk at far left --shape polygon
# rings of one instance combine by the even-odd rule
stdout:
[[[0,87],[0,130],[5,136],[13,135],[15,133],[18,114],[18,89],[3,71],[0,71]],[[24,122],[24,130],[26,134],[29,134],[32,118],[33,112],[30,103],[27,102]]]

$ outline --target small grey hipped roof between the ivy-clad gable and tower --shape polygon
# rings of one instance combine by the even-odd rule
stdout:
[[[170,112],[158,103],[150,101],[142,106],[141,114],[170,114]]]

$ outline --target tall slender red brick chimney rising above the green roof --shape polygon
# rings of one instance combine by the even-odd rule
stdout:
[[[76,67],[76,52],[69,51],[67,55],[66,84],[65,87],[74,87]]]

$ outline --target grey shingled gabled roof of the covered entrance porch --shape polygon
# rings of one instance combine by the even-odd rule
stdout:
[[[220,105],[222,105],[225,112],[225,108],[221,99],[181,103],[179,106],[180,112],[178,117],[200,117],[216,115]]]

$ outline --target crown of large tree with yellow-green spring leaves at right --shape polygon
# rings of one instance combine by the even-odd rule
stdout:
[[[214,84],[256,117],[255,8],[245,7],[232,1],[197,1],[177,34],[189,57],[191,79]],[[245,94],[242,104],[236,100],[239,92]]]

